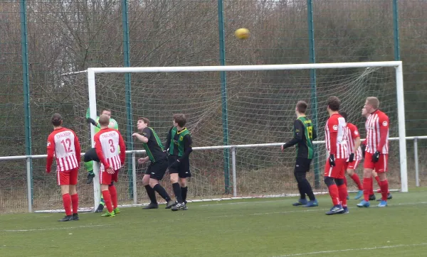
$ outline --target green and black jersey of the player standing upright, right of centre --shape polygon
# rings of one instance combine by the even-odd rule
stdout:
[[[307,116],[300,116],[294,121],[294,136],[285,143],[284,148],[297,145],[297,158],[312,159],[314,155],[312,141],[317,138],[312,121]]]

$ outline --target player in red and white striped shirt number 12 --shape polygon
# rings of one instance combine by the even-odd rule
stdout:
[[[56,158],[56,177],[65,209],[65,217],[58,222],[78,220],[78,194],[75,185],[80,167],[80,143],[74,131],[62,126],[60,114],[53,114],[51,121],[53,132],[48,136],[46,173],[51,173],[53,158]]]

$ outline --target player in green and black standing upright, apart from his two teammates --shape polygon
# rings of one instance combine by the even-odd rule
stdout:
[[[310,163],[315,155],[312,141],[317,138],[317,134],[315,128],[312,126],[312,122],[305,116],[305,111],[307,111],[307,103],[304,101],[297,102],[297,106],[295,107],[297,119],[294,121],[294,137],[283,144],[281,148],[283,151],[285,148],[297,144],[294,175],[297,180],[298,190],[300,191],[300,199],[292,205],[316,207],[318,206],[317,199],[315,198],[315,194],[313,194],[312,187],[307,180],[306,174],[310,171]],[[309,197],[309,202],[305,199],[305,195]]]

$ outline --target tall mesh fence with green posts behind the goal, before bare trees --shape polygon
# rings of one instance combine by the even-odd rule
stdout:
[[[427,2],[423,0],[0,1],[0,155],[46,153],[46,137],[52,129],[49,118],[55,112],[62,114],[71,128],[81,123],[70,91],[62,86],[61,74],[88,67],[400,59],[404,62],[406,135],[427,135],[426,27]],[[237,28],[248,28],[251,37],[236,40],[233,33]],[[311,77],[315,85],[314,72]],[[227,82],[226,74],[218,76],[223,95]],[[126,96],[131,99],[130,90],[135,88],[130,75],[123,78],[124,88],[125,84]],[[227,101],[223,97],[219,145],[233,143]],[[127,108],[122,117],[127,131],[135,116],[154,114],[131,106],[123,108]],[[130,135],[123,134],[128,147],[133,147]],[[426,153],[426,147],[419,141],[418,154]],[[412,154],[408,141],[409,159]],[[231,153],[224,151],[225,192],[231,188],[230,158]],[[31,195],[38,196],[33,199],[35,206],[55,202],[50,195],[58,194],[58,188],[52,177],[45,175],[44,165],[43,159],[31,160],[30,170],[21,160],[2,163],[0,209],[26,209],[29,189]],[[408,165],[411,186],[415,175],[411,162]],[[427,178],[426,165],[419,163],[421,181]],[[27,173],[32,176],[29,186]],[[90,192],[90,187],[86,190]],[[90,202],[90,193],[86,197],[83,201]]]

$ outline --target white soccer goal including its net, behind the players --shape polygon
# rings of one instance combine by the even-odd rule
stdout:
[[[295,150],[280,152],[292,138],[295,104],[309,104],[307,116],[317,129],[316,155],[309,175],[317,192],[325,165],[324,126],[327,97],[342,101],[349,122],[366,136],[361,115],[365,99],[378,97],[390,118],[389,177],[391,188],[408,190],[402,62],[347,62],[295,65],[236,65],[201,67],[94,67],[67,75],[63,83],[75,101],[74,127],[83,151],[93,145],[95,119],[102,108],[127,141],[129,158],[120,176],[122,201],[144,202],[145,166],[139,166],[142,145],[130,136],[137,117],[150,120],[162,141],[172,126],[172,115],[183,113],[193,147],[189,199],[283,195],[297,192],[293,165]],[[95,169],[97,169],[95,165]],[[358,168],[362,174],[362,165]],[[83,173],[83,171],[80,171]],[[85,175],[85,173],[83,173]],[[169,180],[164,185],[170,190]],[[356,187],[349,181],[349,189]],[[95,206],[99,179],[94,180]]]

